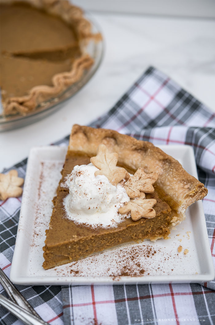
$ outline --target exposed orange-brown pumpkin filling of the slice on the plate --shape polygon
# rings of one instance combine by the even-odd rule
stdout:
[[[69,157],[66,158],[63,175],[70,168],[73,169],[74,166],[83,163],[88,164],[90,161],[89,157],[80,156],[78,153],[70,153]],[[59,186],[57,189],[51,222],[49,229],[46,230],[43,264],[45,269],[76,261],[122,244],[140,242],[144,239],[168,238],[172,218],[171,208],[159,199],[156,192],[146,194],[146,198],[157,200],[154,206],[155,218],[142,218],[138,221],[126,218],[117,227],[108,229],[102,227],[95,229],[69,220],[63,204],[68,193],[69,190],[64,187]]]

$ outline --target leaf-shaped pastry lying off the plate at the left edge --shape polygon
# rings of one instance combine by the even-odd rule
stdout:
[[[22,189],[19,186],[23,183],[24,179],[18,177],[18,172],[14,169],[8,174],[0,174],[0,200],[20,196]]]

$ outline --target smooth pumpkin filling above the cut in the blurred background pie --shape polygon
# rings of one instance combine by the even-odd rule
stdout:
[[[75,30],[60,17],[28,3],[2,3],[0,15],[2,52],[30,55],[78,46]]]

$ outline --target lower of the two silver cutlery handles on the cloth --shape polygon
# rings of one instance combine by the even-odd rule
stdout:
[[[0,305],[4,306],[11,312],[11,314],[19,318],[26,325],[49,325],[26,311],[24,308],[19,307],[9,299],[5,298],[2,294],[0,294]]]

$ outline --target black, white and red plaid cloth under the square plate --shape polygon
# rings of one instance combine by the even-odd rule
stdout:
[[[209,243],[215,257],[215,114],[150,67],[118,103],[91,123],[160,144],[187,144],[195,150],[199,180],[209,189],[203,200]],[[56,144],[68,143],[69,137]],[[27,160],[13,166],[25,176]],[[5,170],[7,172],[8,170]],[[21,198],[0,202],[0,266],[9,276]],[[214,258],[215,261],[215,258]],[[105,286],[17,286],[51,324],[215,324],[215,281],[201,284]],[[1,293],[6,293],[0,287]],[[0,309],[1,324],[21,324]]]

